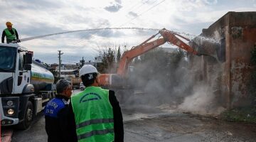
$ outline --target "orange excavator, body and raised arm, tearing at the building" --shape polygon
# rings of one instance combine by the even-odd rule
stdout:
[[[156,35],[158,35],[159,33],[162,36],[161,38],[149,41],[152,38],[155,38]],[[142,55],[148,52],[149,50],[157,48],[166,42],[172,45],[176,45],[179,48],[186,50],[188,53],[192,53],[193,55],[201,55],[196,50],[191,48],[191,46],[184,43],[183,40],[180,39],[180,38],[183,38],[184,40],[190,41],[188,38],[185,38],[182,35],[179,35],[178,33],[175,33],[173,31],[168,31],[165,28],[160,30],[159,33],[152,35],[149,39],[145,40],[140,45],[137,45],[133,47],[131,50],[124,52],[119,62],[119,66],[117,68],[117,74],[101,74],[99,76],[100,86],[108,87],[108,88],[124,87],[125,86],[124,78],[127,75],[127,68],[128,68],[129,62],[131,62],[134,58],[137,58],[139,55]]]

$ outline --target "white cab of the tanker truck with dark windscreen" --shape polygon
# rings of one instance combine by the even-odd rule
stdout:
[[[33,53],[16,43],[0,43],[1,126],[19,124],[26,129],[33,116],[43,109],[45,96],[36,93],[31,83],[32,56]]]

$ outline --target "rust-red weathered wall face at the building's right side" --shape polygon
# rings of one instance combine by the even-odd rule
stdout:
[[[256,12],[230,13],[230,107],[246,105],[252,72],[251,50],[256,43]]]

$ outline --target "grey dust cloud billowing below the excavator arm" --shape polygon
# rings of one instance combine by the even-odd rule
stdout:
[[[187,55],[181,50],[166,53],[157,48],[135,59],[131,66],[134,71],[129,72],[129,84],[134,92],[125,94],[125,109],[208,115],[218,115],[224,110],[219,102],[222,72],[218,62],[209,66],[208,81],[200,79],[201,62],[189,67]]]

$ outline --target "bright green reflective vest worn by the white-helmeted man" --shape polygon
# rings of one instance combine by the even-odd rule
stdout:
[[[109,90],[86,87],[71,97],[78,141],[114,141],[114,115]]]

